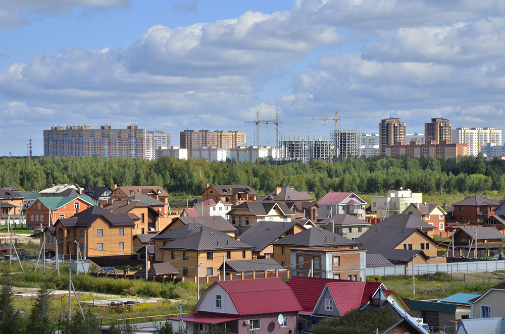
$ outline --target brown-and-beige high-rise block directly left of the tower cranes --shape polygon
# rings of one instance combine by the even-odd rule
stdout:
[[[237,146],[245,145],[245,132],[238,131],[209,131],[209,130],[184,130],[180,132],[180,146],[181,148],[187,148],[189,156],[193,156],[191,153],[193,149],[204,147],[204,146],[214,146],[217,148],[235,148]],[[228,154],[229,157],[229,154]]]

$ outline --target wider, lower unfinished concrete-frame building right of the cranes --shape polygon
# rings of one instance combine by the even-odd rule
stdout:
[[[280,157],[282,160],[301,160],[310,163],[321,159],[333,161],[334,141],[321,136],[282,136]]]

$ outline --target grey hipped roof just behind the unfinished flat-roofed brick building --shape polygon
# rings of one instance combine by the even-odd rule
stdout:
[[[272,243],[272,245],[281,246],[299,246],[299,247],[323,247],[340,245],[359,245],[358,241],[352,241],[341,235],[329,231],[311,228],[301,231],[297,234],[285,236]]]

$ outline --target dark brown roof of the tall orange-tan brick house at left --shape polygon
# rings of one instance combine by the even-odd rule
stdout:
[[[64,227],[90,227],[98,218],[104,218],[111,226],[135,226],[133,220],[125,213],[112,213],[97,205],[91,206],[70,218],[60,218]],[[56,225],[55,224],[55,225]]]

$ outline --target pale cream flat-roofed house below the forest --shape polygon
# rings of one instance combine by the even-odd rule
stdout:
[[[389,190],[387,196],[372,196],[370,210],[381,218],[403,212],[411,203],[423,203],[423,193],[407,190]]]

